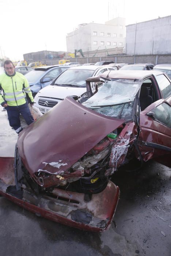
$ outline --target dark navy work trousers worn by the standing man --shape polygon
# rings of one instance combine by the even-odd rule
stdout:
[[[19,133],[22,131],[21,123],[20,123],[20,114],[22,114],[24,120],[27,125],[34,122],[33,116],[30,113],[30,109],[28,107],[28,103],[26,102],[20,106],[8,106],[5,108],[8,113],[9,125],[14,128],[14,130]]]

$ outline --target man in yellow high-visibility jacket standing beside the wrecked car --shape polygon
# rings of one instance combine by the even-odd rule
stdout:
[[[34,122],[27,103],[28,101],[33,105],[34,99],[27,79],[15,72],[15,66],[11,60],[5,60],[4,70],[5,73],[0,75],[0,90],[3,92],[3,96],[0,94],[0,104],[7,110],[9,125],[19,133],[23,130],[20,114],[28,125]]]

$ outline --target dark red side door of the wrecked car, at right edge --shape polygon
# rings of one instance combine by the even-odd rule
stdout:
[[[171,105],[165,99],[140,112],[138,146],[142,159],[154,159],[171,167]]]

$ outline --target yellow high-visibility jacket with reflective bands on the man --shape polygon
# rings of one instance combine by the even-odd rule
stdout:
[[[8,106],[20,106],[26,103],[26,98],[29,103],[34,103],[34,99],[30,90],[29,83],[25,76],[15,72],[9,76],[6,73],[0,75],[0,104],[3,106],[7,103]]]

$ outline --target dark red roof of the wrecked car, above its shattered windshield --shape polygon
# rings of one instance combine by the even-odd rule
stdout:
[[[100,74],[96,78],[104,77],[104,78],[120,78],[120,79],[138,79],[142,80],[146,78],[147,76],[152,75],[160,75],[164,74],[163,72],[159,71],[152,71],[152,70],[111,70],[104,72],[103,74]],[[109,75],[109,76],[108,76]]]

